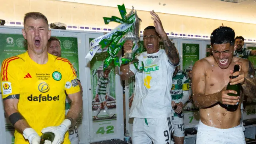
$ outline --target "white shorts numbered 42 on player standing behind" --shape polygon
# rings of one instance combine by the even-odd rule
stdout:
[[[184,137],[185,136],[184,117],[179,118],[178,116],[173,116],[172,117],[172,122],[174,124],[173,136]]]

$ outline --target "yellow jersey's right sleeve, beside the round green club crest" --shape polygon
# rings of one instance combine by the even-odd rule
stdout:
[[[73,65],[67,59],[62,58],[62,61],[64,61],[63,70],[66,71],[66,76],[65,76],[66,83],[65,84],[71,85],[69,87],[65,86],[66,93],[74,94],[76,92],[80,92],[80,87],[76,80],[76,71],[75,71]]]

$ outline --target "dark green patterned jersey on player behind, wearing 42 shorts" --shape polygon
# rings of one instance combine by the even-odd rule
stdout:
[[[189,90],[188,76],[182,71],[178,70],[177,74],[172,78],[172,100],[178,104],[183,98],[183,91]],[[177,116],[174,113],[174,116]]]

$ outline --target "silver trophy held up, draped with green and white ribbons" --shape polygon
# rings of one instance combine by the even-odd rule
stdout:
[[[130,11],[130,13],[126,15],[126,18],[129,18],[132,14],[134,14],[134,16],[135,16],[135,22],[132,24],[132,27],[131,27],[132,31],[127,32],[124,35],[123,38],[124,38],[124,40],[132,40],[132,42],[135,44],[135,43],[138,43],[140,41],[140,23],[141,23],[141,19],[138,17],[136,10],[134,12],[134,7],[133,6],[132,6],[132,11]],[[134,46],[132,48],[132,52],[131,53],[125,53],[124,57],[122,57],[122,58],[126,58],[126,59],[132,60],[134,52],[138,48],[139,48],[138,45]],[[138,59],[134,58],[133,61],[137,61],[138,62]]]

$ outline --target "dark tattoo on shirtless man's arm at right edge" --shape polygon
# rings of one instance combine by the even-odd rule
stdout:
[[[245,76],[244,84],[242,85],[244,95],[249,98],[254,98],[256,96],[256,79],[254,77],[254,68],[252,63],[249,61],[248,75]]]

